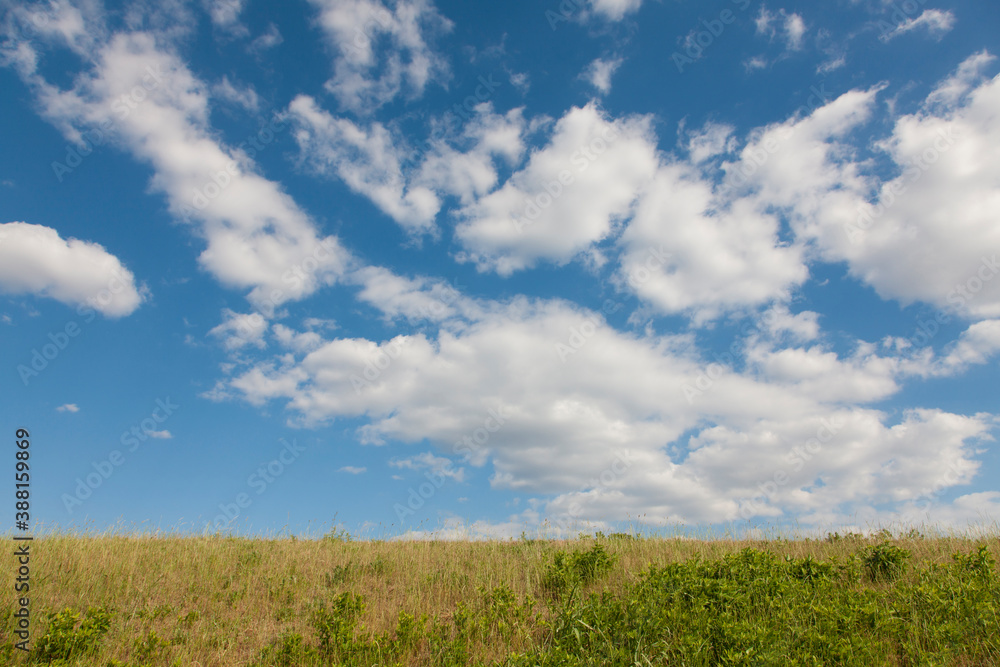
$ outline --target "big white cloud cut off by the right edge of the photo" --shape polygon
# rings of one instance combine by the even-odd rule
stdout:
[[[1000,79],[980,83],[986,54],[968,59],[928,96],[920,111],[896,119],[879,144],[899,175],[873,183],[841,178],[808,204],[828,255],[846,259],[880,296],[924,301],[975,318],[1000,316]],[[832,163],[832,164],[831,164]],[[831,154],[816,169],[845,173]],[[796,176],[800,182],[810,177]],[[869,196],[872,193],[873,196]]]

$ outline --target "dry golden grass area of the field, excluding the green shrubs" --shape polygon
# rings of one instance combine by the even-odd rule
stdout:
[[[1000,560],[1000,544],[989,539]],[[713,559],[745,547],[828,560],[844,559],[877,537],[837,540],[612,539],[601,540],[617,558],[594,590],[621,590],[650,564],[698,557]],[[914,564],[947,563],[981,538],[897,537]],[[171,534],[54,533],[32,543],[33,640],[44,632],[44,612],[84,612],[105,606],[115,612],[99,652],[79,664],[134,662],[137,639],[150,631],[167,644],[153,652],[154,665],[247,665],[288,632],[314,642],[310,624],[316,602],[351,591],[364,596],[364,632],[392,633],[400,611],[443,622],[460,603],[481,604],[482,591],[507,586],[518,600],[530,596],[546,618],[550,601],[541,579],[556,549],[582,549],[594,539],[572,541],[345,541],[342,539],[248,539]],[[8,550],[8,553],[12,550]],[[8,556],[8,572],[15,568]],[[13,600],[7,597],[9,622]],[[9,635],[9,626],[6,634]],[[539,630],[541,632],[541,630]],[[8,637],[5,637],[6,641]],[[542,637],[535,636],[535,640]],[[478,658],[501,659],[525,648],[530,637],[480,647]],[[14,664],[28,664],[16,652]]]

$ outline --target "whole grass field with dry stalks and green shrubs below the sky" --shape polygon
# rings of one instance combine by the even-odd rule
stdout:
[[[1000,665],[998,556],[995,534],[506,542],[50,534],[32,545],[32,650],[14,649],[8,589],[0,659]]]

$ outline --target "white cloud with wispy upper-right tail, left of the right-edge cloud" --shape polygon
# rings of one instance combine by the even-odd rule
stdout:
[[[664,162],[642,193],[620,239],[619,281],[653,308],[697,323],[789,298],[808,278],[816,217],[838,188],[860,180],[853,163],[826,156],[847,154],[837,139],[868,117],[874,94],[852,91],[754,130],[738,153],[728,126],[692,133],[688,158]],[[781,206],[801,213],[792,241],[782,239]]]

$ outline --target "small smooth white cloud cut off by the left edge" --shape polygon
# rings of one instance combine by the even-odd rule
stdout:
[[[106,317],[129,315],[145,299],[132,272],[101,245],[26,222],[0,224],[0,292],[87,306]]]

